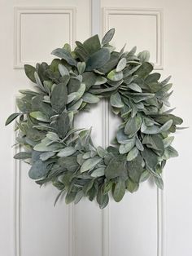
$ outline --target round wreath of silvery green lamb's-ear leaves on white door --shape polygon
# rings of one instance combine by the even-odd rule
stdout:
[[[74,51],[65,44],[52,52],[60,59],[51,64],[24,65],[36,90],[20,90],[20,113],[8,117],[6,125],[18,117],[16,140],[24,152],[15,159],[31,165],[29,177],[37,184],[51,182],[60,190],[56,201],[63,193],[66,203],[96,197],[103,208],[109,192],[118,202],[150,176],[163,188],[164,165],[177,156],[170,133],[182,119],[165,108],[170,77],[159,82],[160,74],[151,73],[148,51],[115,51],[109,44],[114,33],[109,30],[102,42],[98,35],[76,42]],[[94,147],[91,130],[73,127],[75,115],[102,97],[122,120],[114,146],[106,149]]]

